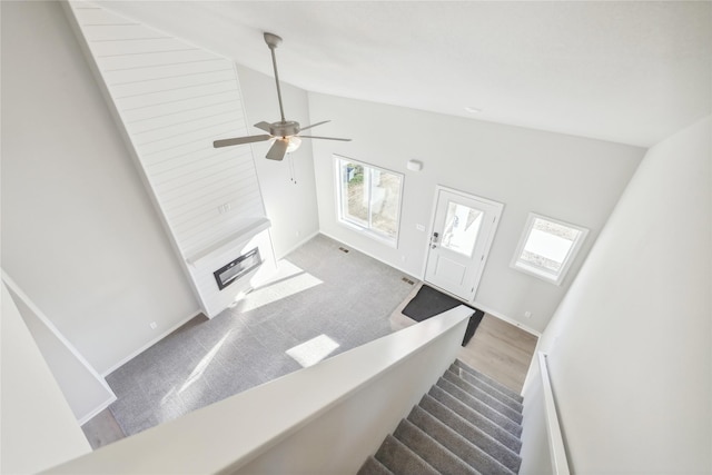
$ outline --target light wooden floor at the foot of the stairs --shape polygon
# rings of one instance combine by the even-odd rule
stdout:
[[[521,393],[537,337],[490,314],[459,350],[461,360]]]

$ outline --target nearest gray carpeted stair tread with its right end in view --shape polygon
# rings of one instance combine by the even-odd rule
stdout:
[[[423,396],[418,405],[457,434],[465,437],[469,443],[490,454],[512,472],[517,473],[520,471],[522,457],[520,457],[517,453],[452,410],[449,407],[427,394]]]

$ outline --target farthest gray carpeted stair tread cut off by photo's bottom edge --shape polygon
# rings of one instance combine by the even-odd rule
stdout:
[[[421,406],[415,406],[407,418],[477,472],[487,475],[512,474],[512,471],[490,454],[457,434]]]

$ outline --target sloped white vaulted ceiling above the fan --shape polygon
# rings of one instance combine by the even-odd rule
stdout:
[[[642,147],[712,111],[709,1],[96,3],[270,76],[277,33],[309,91]]]

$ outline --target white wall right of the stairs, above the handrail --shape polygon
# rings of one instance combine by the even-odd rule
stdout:
[[[712,471],[711,131],[649,150],[542,337],[575,473]]]

